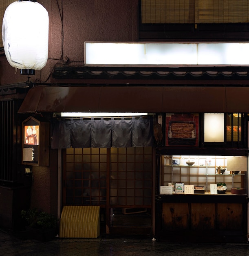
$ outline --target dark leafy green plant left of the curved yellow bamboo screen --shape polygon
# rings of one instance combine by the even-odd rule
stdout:
[[[57,227],[57,218],[50,213],[29,209],[28,211],[22,210],[21,217],[26,222],[27,226],[36,227],[40,229],[50,229]]]

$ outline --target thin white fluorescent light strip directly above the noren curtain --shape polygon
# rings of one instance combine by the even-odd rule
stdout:
[[[61,117],[134,117],[147,116],[148,113],[111,113],[111,112],[62,112]]]

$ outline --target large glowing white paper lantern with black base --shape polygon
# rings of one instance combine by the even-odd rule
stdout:
[[[10,4],[2,22],[2,41],[9,64],[21,74],[41,70],[48,59],[48,12],[38,2]]]

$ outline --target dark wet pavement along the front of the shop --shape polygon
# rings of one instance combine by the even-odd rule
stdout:
[[[249,244],[164,243],[151,237],[55,238],[41,242],[0,229],[0,256],[249,255]]]

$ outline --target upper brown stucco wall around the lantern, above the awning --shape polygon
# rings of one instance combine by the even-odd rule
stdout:
[[[50,83],[55,65],[84,65],[85,41],[137,41],[138,0],[44,0],[49,15],[48,62],[30,79]],[[26,82],[0,52],[1,85]]]

